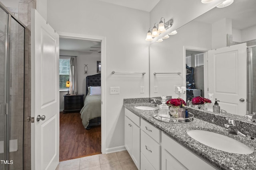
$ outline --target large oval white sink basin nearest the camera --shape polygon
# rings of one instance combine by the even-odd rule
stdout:
[[[254,151],[243,143],[236,141],[235,139],[232,139],[230,137],[220,135],[218,133],[202,130],[191,130],[187,131],[187,133],[196,141],[214,149],[222,150],[225,152],[236,154],[250,154]]]

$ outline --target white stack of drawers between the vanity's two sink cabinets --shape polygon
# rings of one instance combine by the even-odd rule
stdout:
[[[161,168],[161,131],[144,119],[141,122],[141,170],[160,170]]]

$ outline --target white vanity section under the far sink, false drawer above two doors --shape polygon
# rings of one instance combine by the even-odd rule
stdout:
[[[124,146],[140,169],[140,117],[125,108]]]

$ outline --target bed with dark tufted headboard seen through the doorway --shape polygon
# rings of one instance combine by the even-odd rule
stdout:
[[[81,109],[81,119],[84,128],[101,124],[101,84],[100,74],[86,77],[86,97],[84,107]]]

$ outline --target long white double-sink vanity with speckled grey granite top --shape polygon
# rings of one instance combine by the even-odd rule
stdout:
[[[216,115],[205,121],[198,119],[200,116],[195,113],[191,123],[174,124],[156,120],[153,110],[137,109],[136,106],[156,107],[148,98],[124,99],[125,147],[139,170],[256,169],[256,152],[253,151],[256,150],[256,139],[229,134],[224,125],[217,125],[222,124],[222,120],[218,121]],[[190,137],[187,133],[190,130],[230,137],[248,146],[252,153],[236,154],[208,147]]]

